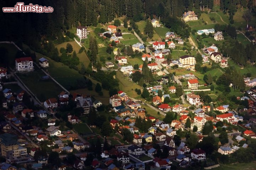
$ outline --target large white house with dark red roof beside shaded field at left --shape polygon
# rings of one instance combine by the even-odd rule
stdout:
[[[22,57],[15,59],[15,68],[18,72],[31,72],[34,70],[33,60],[31,57]]]

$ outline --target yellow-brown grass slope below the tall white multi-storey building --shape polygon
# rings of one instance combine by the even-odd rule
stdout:
[[[55,45],[55,47],[57,47],[59,51],[61,47],[66,48],[66,45],[68,43],[73,46],[73,50],[76,52],[76,55],[78,56],[80,63],[84,63],[85,67],[87,67],[90,63],[90,60],[85,52],[78,53],[81,47],[75,41],[63,42],[62,44]],[[78,66],[78,68],[80,68],[80,65]]]

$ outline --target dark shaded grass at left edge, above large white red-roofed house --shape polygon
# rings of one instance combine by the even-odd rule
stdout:
[[[6,43],[1,43],[0,48],[1,47],[5,48],[8,51],[8,53],[6,54],[6,57],[8,58],[7,61],[9,62],[9,66],[11,68],[14,68],[15,67],[15,56],[16,56],[18,49],[13,44],[6,44]]]

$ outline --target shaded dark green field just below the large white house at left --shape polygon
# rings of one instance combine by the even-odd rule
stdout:
[[[48,98],[57,98],[58,94],[62,92],[63,89],[51,79],[42,80],[41,77],[45,74],[37,67],[34,68],[35,70],[33,72],[18,73],[18,76],[39,100],[42,101]]]

